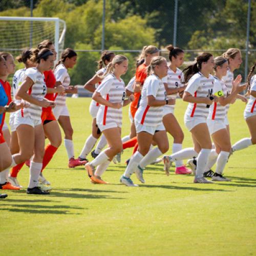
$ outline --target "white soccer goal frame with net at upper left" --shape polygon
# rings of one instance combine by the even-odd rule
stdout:
[[[40,41],[50,39],[54,41],[58,59],[59,51],[64,46],[65,33],[66,23],[59,18],[0,16],[2,51],[36,47]]]

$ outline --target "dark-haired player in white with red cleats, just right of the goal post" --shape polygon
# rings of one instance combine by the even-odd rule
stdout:
[[[56,86],[63,86],[65,88],[65,93],[77,93],[77,88],[70,86],[70,76],[68,73],[68,69],[73,69],[75,66],[76,59],[76,52],[67,48],[61,53],[61,58],[54,70]],[[56,107],[53,109],[53,114],[65,133],[64,144],[69,157],[69,167],[73,168],[75,166],[85,164],[86,161],[80,161],[74,157],[74,143],[72,140],[73,128],[70,121],[68,107],[66,105],[66,97],[66,94],[57,95],[55,99]]]

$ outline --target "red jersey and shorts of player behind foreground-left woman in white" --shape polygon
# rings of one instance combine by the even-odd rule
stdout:
[[[56,79],[55,79],[53,71],[52,70],[45,71],[44,76],[45,76],[46,87],[47,88],[54,88],[55,83],[56,83]],[[54,94],[53,93],[47,93],[45,98],[49,99],[51,101],[54,101]],[[42,108],[41,120],[42,120],[42,124],[45,124],[49,121],[56,120],[56,118],[55,118],[55,116],[52,112],[52,107],[51,106],[48,106],[47,108]]]

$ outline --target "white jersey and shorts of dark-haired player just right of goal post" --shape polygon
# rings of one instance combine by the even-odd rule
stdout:
[[[55,75],[56,81],[61,82],[62,86],[65,89],[69,88],[70,76],[67,68],[63,64],[60,64],[56,67],[56,69],[54,70],[54,75]],[[53,109],[53,114],[56,120],[59,119],[59,116],[69,116],[69,110],[66,105],[66,98],[67,98],[66,94],[64,95],[58,94],[55,99],[56,106]]]

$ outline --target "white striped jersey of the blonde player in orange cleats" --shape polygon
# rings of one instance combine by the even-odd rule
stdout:
[[[125,84],[120,78],[117,79],[114,74],[107,75],[98,86],[95,92],[112,102],[123,104],[125,98]],[[109,106],[100,105],[97,113],[97,123],[106,125],[109,123],[117,123],[119,127],[122,126],[122,108],[114,109]]]

